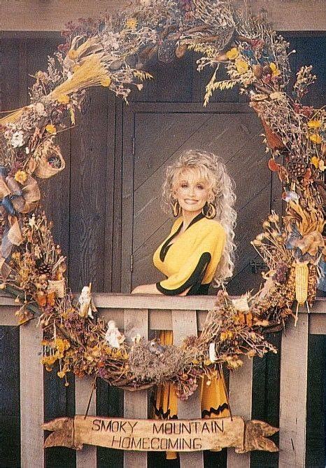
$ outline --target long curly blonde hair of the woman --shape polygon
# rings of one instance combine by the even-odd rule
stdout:
[[[173,203],[176,202],[174,193],[180,175],[185,171],[194,170],[201,180],[207,184],[208,202],[216,207],[215,219],[226,233],[226,243],[218,268],[214,275],[214,286],[218,287],[232,277],[234,269],[234,228],[236,225],[236,211],[234,202],[234,181],[227,174],[225,163],[213,153],[189,150],[181,154],[180,158],[166,168],[166,178],[162,191],[162,209],[166,214],[173,214]]]

